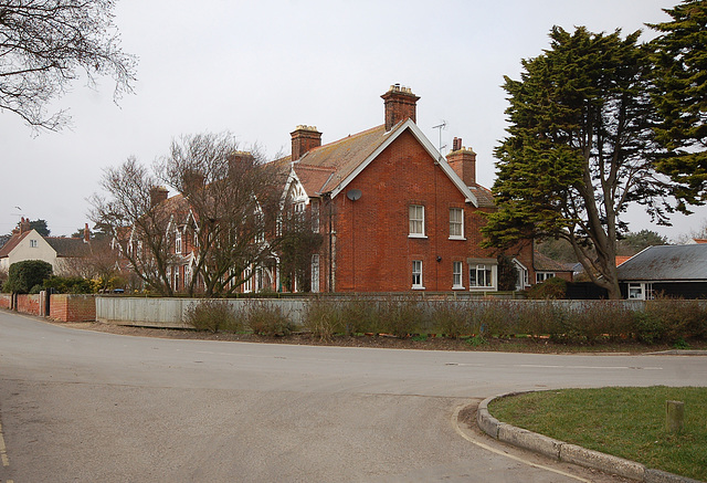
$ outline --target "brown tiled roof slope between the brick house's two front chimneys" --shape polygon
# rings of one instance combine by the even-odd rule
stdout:
[[[330,191],[394,132],[381,125],[314,148],[295,161],[295,172],[309,195]]]

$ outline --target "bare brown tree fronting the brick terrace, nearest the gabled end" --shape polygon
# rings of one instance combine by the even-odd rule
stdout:
[[[229,133],[183,136],[157,168],[191,210],[197,243],[194,276],[207,296],[238,290],[273,256],[275,223],[284,180],[255,147],[239,150]]]

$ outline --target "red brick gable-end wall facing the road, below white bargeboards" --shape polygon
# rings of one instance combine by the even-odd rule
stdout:
[[[493,251],[479,248],[481,210],[465,203],[464,196],[410,132],[349,183],[347,191],[351,189],[361,190],[359,200],[351,201],[345,193],[333,200],[337,292],[410,291],[413,260],[422,261],[426,291],[451,291],[452,262],[463,261],[463,281],[468,288],[466,259],[495,258]],[[410,204],[425,207],[426,239],[409,238]],[[464,209],[466,241],[450,240],[452,207]],[[529,252],[524,264],[531,266]],[[325,263],[320,272],[326,275]],[[326,290],[324,284],[321,287]]]

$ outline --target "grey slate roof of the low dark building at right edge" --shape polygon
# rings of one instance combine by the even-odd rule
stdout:
[[[648,246],[618,267],[620,281],[707,281],[707,244]]]

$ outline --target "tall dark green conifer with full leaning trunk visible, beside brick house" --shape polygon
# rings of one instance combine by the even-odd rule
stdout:
[[[568,240],[591,280],[619,298],[621,214],[642,203],[667,223],[669,186],[653,165],[657,122],[651,103],[650,50],[640,32],[550,32],[550,49],[506,77],[508,136],[496,148],[498,211],[486,244],[524,238]]]

